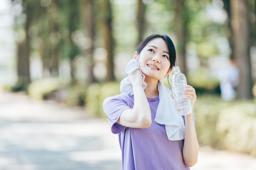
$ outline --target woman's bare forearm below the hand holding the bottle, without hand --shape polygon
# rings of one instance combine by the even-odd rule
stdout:
[[[192,113],[185,115],[185,138],[182,150],[184,163],[189,167],[196,164],[199,152],[192,116]]]

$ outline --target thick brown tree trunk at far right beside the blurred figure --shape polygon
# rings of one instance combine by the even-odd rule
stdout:
[[[249,55],[249,23],[247,0],[230,1],[234,58],[238,63],[238,99],[252,98],[252,76]]]

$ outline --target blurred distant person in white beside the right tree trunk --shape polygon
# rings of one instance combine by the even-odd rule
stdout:
[[[238,85],[239,70],[236,67],[234,59],[230,63],[220,68],[218,79],[220,81],[221,98],[224,101],[234,100],[236,91],[234,88]]]

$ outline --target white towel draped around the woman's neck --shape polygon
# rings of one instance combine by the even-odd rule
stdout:
[[[125,68],[125,72],[132,74],[136,69],[140,70],[139,63],[135,59],[131,60]],[[141,70],[140,70],[141,72]],[[143,89],[147,84],[144,82],[145,75],[141,72],[143,78]],[[120,92],[133,95],[132,84],[128,77],[124,78],[120,84]],[[165,125],[166,135],[171,141],[178,141],[184,139],[185,125],[181,115],[176,113],[174,99],[170,96],[172,91],[164,84],[158,81],[159,104],[156,110],[156,117],[154,121],[158,124]]]

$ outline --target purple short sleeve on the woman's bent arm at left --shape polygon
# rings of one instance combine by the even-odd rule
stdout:
[[[116,96],[116,98],[109,100],[103,107],[104,112],[108,116],[108,121],[111,125],[111,131],[114,134],[121,133],[126,129],[125,126],[116,123],[118,121],[121,113],[125,109],[131,109],[124,98]]]

